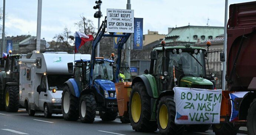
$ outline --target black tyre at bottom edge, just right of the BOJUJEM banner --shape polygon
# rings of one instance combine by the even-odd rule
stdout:
[[[236,135],[239,126],[233,126],[232,123],[214,124],[212,125],[215,135]]]

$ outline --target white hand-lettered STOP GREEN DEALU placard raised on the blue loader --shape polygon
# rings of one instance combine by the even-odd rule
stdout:
[[[107,9],[107,31],[134,33],[134,10]]]

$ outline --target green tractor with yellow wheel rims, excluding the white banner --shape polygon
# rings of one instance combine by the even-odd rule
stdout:
[[[214,73],[207,77],[205,48],[186,46],[154,48],[150,70],[132,81],[129,118],[132,129],[138,132],[181,134],[184,130],[203,132],[210,125],[176,125],[173,87],[214,89]],[[210,42],[207,43],[210,46]],[[221,61],[224,54],[220,53]],[[207,60],[207,59],[206,59]],[[207,62],[208,64],[208,62]],[[177,79],[176,79],[177,78]]]

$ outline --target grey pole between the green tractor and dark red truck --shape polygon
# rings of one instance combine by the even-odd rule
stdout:
[[[228,9],[228,0],[225,0],[225,21],[224,21],[224,47],[223,51],[225,54],[225,61],[222,63],[222,90],[226,89],[226,61],[227,61],[227,9]]]

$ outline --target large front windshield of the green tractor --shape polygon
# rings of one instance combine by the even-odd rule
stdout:
[[[191,77],[205,77],[206,69],[204,63],[204,53],[182,52],[180,54],[170,53],[169,72],[173,75],[173,65],[175,66],[175,77],[180,75]]]

